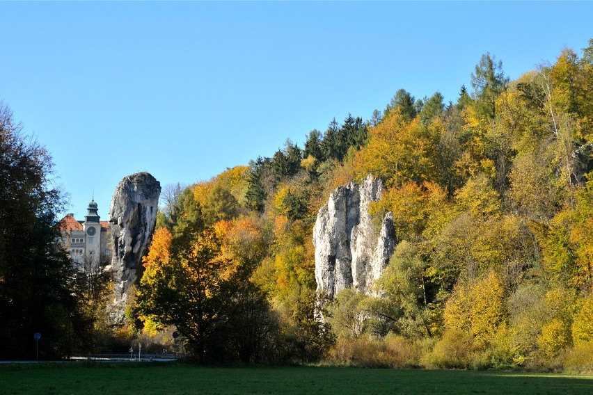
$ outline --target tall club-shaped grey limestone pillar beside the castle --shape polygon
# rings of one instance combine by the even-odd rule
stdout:
[[[129,289],[142,273],[142,257],[148,253],[157,223],[161,184],[148,172],[122,179],[111,198],[111,266],[115,289],[113,321],[124,319]]]

